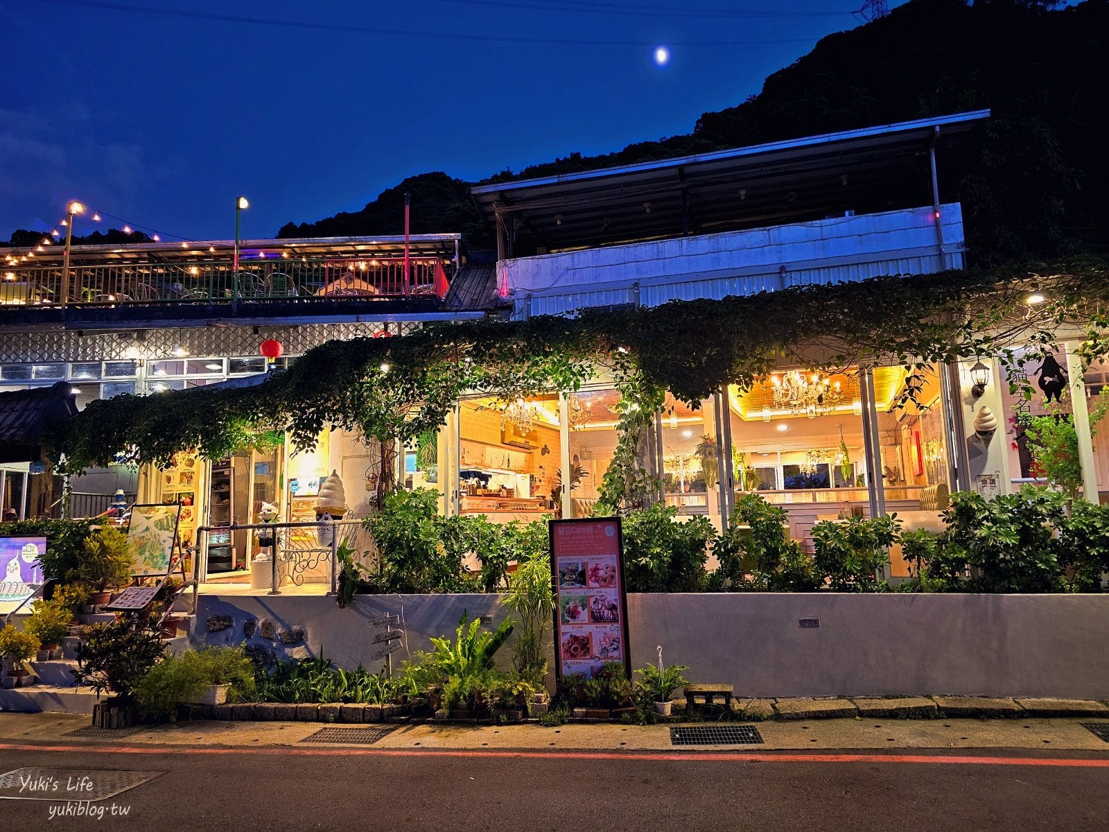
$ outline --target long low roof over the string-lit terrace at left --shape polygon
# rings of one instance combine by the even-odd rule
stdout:
[[[413,234],[409,237],[408,251],[414,257],[440,257],[451,260],[459,245],[461,234]],[[98,263],[118,263],[131,261],[134,263],[171,263],[192,262],[196,260],[227,258],[234,255],[234,240],[191,240],[187,247],[181,242],[169,243],[128,243],[125,245],[74,245],[70,252],[72,265],[90,265]],[[62,261],[65,246],[60,242],[37,252],[33,261],[26,265],[55,265]],[[214,252],[208,251],[215,248]],[[238,250],[246,257],[255,257],[258,252],[281,257],[284,252],[289,256],[306,256],[316,260],[335,257],[401,257],[405,253],[404,235],[374,237],[306,237],[303,240],[240,240]],[[27,247],[0,248],[0,258],[4,254],[26,254]]]

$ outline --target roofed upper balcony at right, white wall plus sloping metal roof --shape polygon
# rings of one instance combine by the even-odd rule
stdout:
[[[937,148],[988,110],[480,185],[515,314],[963,266]]]

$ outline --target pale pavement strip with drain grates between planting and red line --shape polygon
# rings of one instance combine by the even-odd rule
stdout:
[[[12,743],[64,743],[67,745],[151,747],[291,747],[373,748],[420,750],[603,750],[603,751],[705,751],[824,749],[1039,749],[1100,751],[1106,742],[1081,726],[1103,719],[833,719],[759,722],[762,744],[681,745],[670,742],[672,726],[620,726],[569,723],[558,728],[537,724],[452,726],[441,723],[389,723],[376,726],[322,722],[215,722],[187,721],[141,728],[124,735],[70,737],[87,728],[89,717],[61,713],[0,714],[0,745]],[[688,723],[711,727],[719,723]],[[728,723],[734,724],[734,723]],[[304,742],[323,728],[377,728],[387,734],[372,744]]]

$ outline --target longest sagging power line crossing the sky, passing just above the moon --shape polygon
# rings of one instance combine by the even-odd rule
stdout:
[[[82,9],[100,9],[104,11],[121,11],[134,14],[151,14],[163,18],[185,18],[189,20],[213,20],[223,23],[250,23],[252,26],[269,26],[285,29],[309,29],[323,32],[343,32],[356,34],[380,34],[396,38],[420,38],[428,40],[449,41],[485,41],[489,43],[545,43],[570,47],[648,47],[658,45],[654,41],[643,40],[580,40],[573,38],[526,38],[506,34],[470,34],[454,32],[423,32],[409,29],[381,29],[350,23],[316,23],[301,20],[281,20],[277,18],[254,18],[238,14],[216,14],[214,12],[185,11],[182,9],[150,9],[142,6],[125,3],[95,2],[94,0],[37,0],[40,3],[54,6],[73,6]],[[752,47],[760,44],[808,43],[812,38],[784,38],[780,40],[696,40],[671,41],[671,47]]]

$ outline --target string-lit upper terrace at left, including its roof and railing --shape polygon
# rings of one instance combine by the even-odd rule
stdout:
[[[434,316],[458,234],[0,250],[0,325]],[[407,266],[407,268],[406,268]]]

